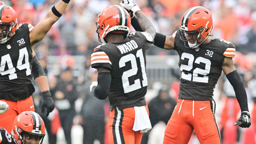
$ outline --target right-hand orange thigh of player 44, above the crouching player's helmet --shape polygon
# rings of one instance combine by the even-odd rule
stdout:
[[[32,96],[26,98],[25,100],[17,101],[17,110],[18,114],[20,114],[23,111],[33,111],[34,112],[34,102],[32,99]]]

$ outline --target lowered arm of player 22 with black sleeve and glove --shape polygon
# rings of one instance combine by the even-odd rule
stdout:
[[[247,95],[244,84],[236,71],[232,58],[224,58],[222,69],[234,88],[236,99],[238,100],[241,108],[241,116],[234,125],[239,125],[242,128],[249,128],[251,125],[251,119],[247,103]]]

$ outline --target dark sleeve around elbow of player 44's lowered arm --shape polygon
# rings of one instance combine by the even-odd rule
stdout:
[[[33,78],[36,79],[38,76],[46,75],[44,73],[43,67],[40,64],[37,56],[35,55],[32,60],[32,71],[31,71]]]

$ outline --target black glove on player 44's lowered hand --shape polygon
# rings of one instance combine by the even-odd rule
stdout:
[[[46,108],[46,117],[49,115],[50,112],[54,109],[54,102],[52,100],[52,95],[50,94],[50,91],[42,92],[43,100],[41,103],[42,106],[42,113],[44,113],[44,109]]]

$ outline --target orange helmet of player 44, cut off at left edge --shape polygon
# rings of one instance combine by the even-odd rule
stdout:
[[[3,26],[4,27],[3,29]],[[17,14],[10,6],[0,4],[0,43],[6,43],[17,28]]]

